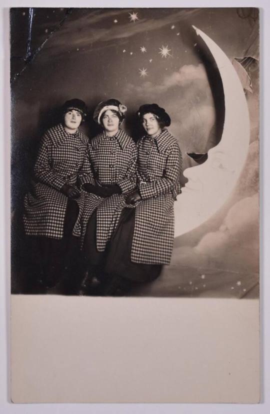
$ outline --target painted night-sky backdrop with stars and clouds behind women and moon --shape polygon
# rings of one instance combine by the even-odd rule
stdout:
[[[258,9],[14,8],[10,24],[16,214],[40,137],[57,122],[60,105],[73,97],[89,108],[83,125],[89,138],[97,132],[91,115],[101,100],[115,97],[126,104],[123,128],[135,140],[142,132],[135,111],[142,103],[158,103],[171,117],[169,130],[178,139],[183,169],[202,162],[220,140],[224,108],[210,58],[191,26],[221,47],[239,74],[248,103],[245,166],[223,207],[175,238],[170,266],[138,294],[257,297]],[[192,153],[200,155],[194,160]]]

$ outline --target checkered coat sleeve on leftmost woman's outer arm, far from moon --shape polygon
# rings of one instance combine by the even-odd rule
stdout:
[[[65,184],[65,180],[51,167],[50,145],[50,140],[45,134],[42,138],[34,165],[34,177],[38,181],[60,190]]]

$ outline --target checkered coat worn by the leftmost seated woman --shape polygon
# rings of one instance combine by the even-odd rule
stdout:
[[[24,198],[27,235],[62,238],[67,197],[60,188],[63,184],[80,188],[91,179],[87,148],[88,138],[79,129],[69,134],[58,124],[45,132],[34,166],[33,189]],[[83,194],[76,201],[81,212]]]

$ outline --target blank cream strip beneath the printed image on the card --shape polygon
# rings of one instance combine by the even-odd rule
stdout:
[[[256,299],[11,297],[13,402],[259,401]]]

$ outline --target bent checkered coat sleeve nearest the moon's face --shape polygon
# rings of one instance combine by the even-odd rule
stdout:
[[[167,155],[166,164],[161,178],[153,182],[146,182],[139,187],[142,199],[155,195],[173,192],[175,187],[179,187],[179,177],[181,173],[182,156],[178,144],[171,146]]]

